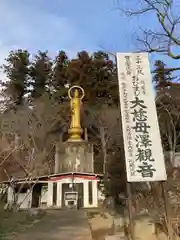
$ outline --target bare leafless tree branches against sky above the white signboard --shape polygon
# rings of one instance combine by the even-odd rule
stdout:
[[[142,47],[141,51],[149,53],[158,52],[167,54],[172,59],[180,59],[176,48],[180,48],[180,14],[173,14],[175,3],[172,0],[142,0],[142,7],[137,10],[118,9],[129,17],[154,13],[161,31],[152,31],[141,28],[143,37],[137,37],[137,42]]]

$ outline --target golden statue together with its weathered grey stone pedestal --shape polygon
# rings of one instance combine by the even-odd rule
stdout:
[[[61,152],[57,154],[55,173],[94,173],[93,145],[82,139],[80,112],[84,94],[84,90],[80,86],[72,86],[68,91],[71,106],[69,138],[60,147]]]

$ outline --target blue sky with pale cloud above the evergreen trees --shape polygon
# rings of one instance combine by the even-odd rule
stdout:
[[[123,6],[135,1],[120,0]],[[58,50],[69,56],[81,50],[134,51],[139,26],[156,22],[150,16],[127,18],[116,8],[116,0],[0,0],[0,64],[17,48],[32,54],[49,50],[52,56]]]

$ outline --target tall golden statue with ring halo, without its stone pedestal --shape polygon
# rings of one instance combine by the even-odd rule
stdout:
[[[74,89],[73,96],[71,95]],[[81,96],[80,96],[81,91]],[[72,86],[68,91],[68,96],[71,99],[71,125],[68,131],[68,141],[82,141],[82,128],[80,123],[80,109],[82,99],[84,98],[84,90],[80,86]]]

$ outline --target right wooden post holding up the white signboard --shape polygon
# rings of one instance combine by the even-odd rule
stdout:
[[[161,181],[161,188],[162,188],[162,195],[164,199],[164,210],[165,210],[165,220],[167,224],[167,230],[168,230],[168,239],[173,240],[173,231],[172,231],[172,224],[170,221],[170,205],[168,201],[168,194],[166,190],[166,183]]]

